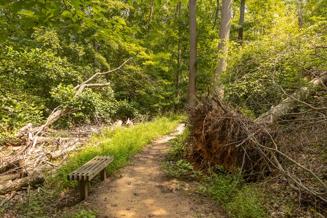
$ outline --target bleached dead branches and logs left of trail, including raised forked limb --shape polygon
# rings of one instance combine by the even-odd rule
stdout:
[[[133,58],[127,59],[115,69],[97,72],[88,80],[75,86],[73,98],[77,99],[87,88],[109,86],[110,82],[90,82],[99,76],[121,70],[130,60]],[[8,142],[3,146],[5,148],[0,146],[0,194],[6,194],[31,184],[42,183],[44,179],[41,171],[45,169],[44,166],[57,167],[58,165],[54,164],[53,160],[58,158],[64,160],[70,151],[78,150],[77,147],[83,144],[90,134],[101,129],[101,127],[87,126],[86,128],[76,128],[70,132],[64,132],[51,128],[60,118],[76,110],[77,108],[60,105],[52,111],[43,125],[33,126],[32,123],[29,123],[16,133],[15,138],[8,139]],[[132,124],[128,119],[126,125]],[[122,125],[122,121],[118,125]]]

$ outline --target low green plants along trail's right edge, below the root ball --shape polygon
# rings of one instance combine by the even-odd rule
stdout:
[[[265,206],[265,194],[253,183],[246,183],[238,175],[230,174],[222,167],[208,169],[207,172],[195,171],[185,160],[188,153],[186,129],[177,138],[170,140],[166,161],[161,168],[168,176],[198,178],[198,189],[204,196],[222,205],[230,217],[259,218],[269,217]]]

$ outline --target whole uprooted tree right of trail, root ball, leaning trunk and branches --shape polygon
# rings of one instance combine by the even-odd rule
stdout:
[[[326,180],[322,179],[323,175],[318,174],[321,171],[311,169],[306,166],[308,163],[296,160],[301,158],[298,157],[300,155],[294,154],[292,149],[287,149],[287,144],[283,144],[284,141],[280,138],[285,133],[277,124],[282,120],[290,121],[294,125],[296,120],[282,119],[288,114],[294,116],[319,112],[311,118],[298,120],[315,120],[311,122],[311,127],[319,124],[320,126],[315,128],[325,128],[327,119],[322,112],[327,111],[327,108],[314,107],[305,100],[315,94],[317,87],[325,88],[326,82],[327,75],[312,80],[311,86],[287,95],[282,103],[272,107],[255,121],[244,117],[237,110],[228,108],[219,102],[217,97],[199,103],[196,108],[191,108],[187,121],[190,129],[189,155],[201,162],[202,167],[220,165],[229,171],[239,170],[240,175],[250,181],[262,180],[269,176],[284,177],[288,186],[300,196],[314,196],[322,205],[327,205],[327,185]],[[293,112],[299,104],[307,109]],[[292,137],[299,137],[299,128],[300,126],[294,130]],[[327,132],[327,129],[324,132]],[[324,143],[326,135],[312,133],[307,137],[315,137],[308,140],[310,146],[310,141],[320,140]]]

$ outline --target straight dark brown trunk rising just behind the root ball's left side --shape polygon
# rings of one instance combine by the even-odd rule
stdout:
[[[188,104],[194,106],[196,102],[196,82],[197,71],[197,33],[196,33],[196,0],[190,0],[190,74],[189,74],[189,93]]]

